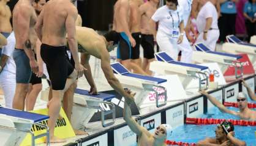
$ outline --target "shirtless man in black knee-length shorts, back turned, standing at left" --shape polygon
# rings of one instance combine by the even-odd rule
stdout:
[[[61,7],[56,7],[61,5]],[[54,136],[56,120],[61,108],[63,93],[83,75],[85,68],[80,64],[75,37],[77,8],[69,0],[48,1],[43,7],[36,24],[37,35],[42,42],[40,54],[47,64],[52,86],[52,99],[48,102],[48,127],[50,142],[65,142]],[[70,51],[75,61],[75,69],[66,56],[66,35]]]

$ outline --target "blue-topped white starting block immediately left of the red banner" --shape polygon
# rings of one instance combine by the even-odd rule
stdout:
[[[192,54],[192,60],[195,63],[211,63],[216,62],[220,71],[224,74],[227,71],[228,66],[235,66],[235,77],[240,78],[241,75],[238,75],[238,71],[243,72],[243,65],[241,62],[237,61],[239,58],[242,58],[240,55],[227,54],[222,52],[211,51],[205,44],[198,43],[195,44],[195,50]]]

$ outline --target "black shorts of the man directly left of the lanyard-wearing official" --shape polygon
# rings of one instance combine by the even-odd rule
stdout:
[[[143,47],[143,56],[146,59],[154,58],[154,36],[141,34],[141,46]]]

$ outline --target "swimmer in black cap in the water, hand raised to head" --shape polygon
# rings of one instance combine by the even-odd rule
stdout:
[[[246,142],[237,139],[235,136],[235,128],[231,122],[221,122],[215,130],[216,138],[206,138],[197,143],[197,146],[244,146]]]

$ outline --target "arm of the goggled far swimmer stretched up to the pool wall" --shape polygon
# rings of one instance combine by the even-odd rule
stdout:
[[[211,103],[213,103],[213,105],[217,106],[217,108],[220,109],[220,111],[224,112],[224,113],[228,113],[228,114],[234,114],[234,115],[238,115],[238,113],[236,113],[235,111],[231,111],[229,109],[227,109],[224,105],[222,105],[222,103],[220,103],[218,100],[216,100],[215,97],[209,95],[205,90],[201,90],[200,91],[201,94],[203,94],[204,96],[206,96]]]

